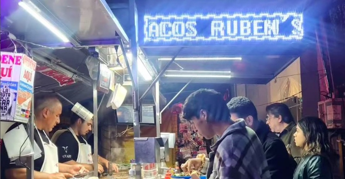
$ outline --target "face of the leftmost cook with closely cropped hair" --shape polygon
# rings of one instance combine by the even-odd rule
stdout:
[[[56,103],[56,105],[51,108],[43,108],[42,116],[44,118],[44,130],[46,132],[51,132],[53,128],[60,123],[61,113],[61,103]]]

